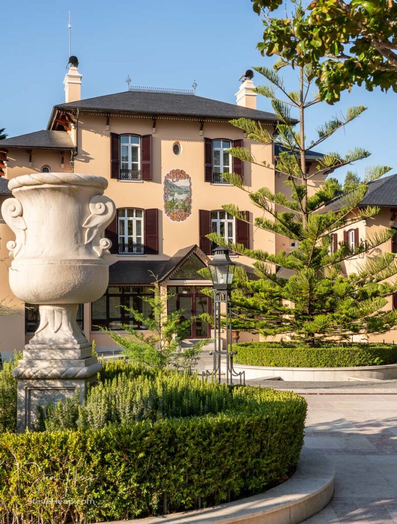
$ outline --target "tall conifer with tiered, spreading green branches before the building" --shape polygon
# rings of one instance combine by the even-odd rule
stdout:
[[[244,148],[231,148],[230,153],[243,161],[249,161],[264,169],[275,169],[284,177],[285,190],[274,193],[264,187],[250,191],[236,181],[233,173],[222,176],[244,190],[260,215],[253,226],[274,233],[279,237],[293,239],[296,249],[278,253],[263,249],[247,249],[241,244],[229,247],[236,253],[255,260],[259,280],[252,280],[239,270],[236,275],[237,289],[233,293],[235,329],[259,332],[264,335],[289,333],[294,339],[313,344],[332,336],[350,340],[353,335],[368,336],[393,329],[397,322],[396,311],[384,311],[387,297],[395,285],[390,279],[397,272],[394,255],[362,258],[354,274],[345,275],[343,266],[352,258],[364,257],[375,248],[388,242],[393,231],[381,228],[377,233],[355,245],[354,249],[343,241],[334,247],[332,234],[349,229],[357,223],[371,220],[379,208],[361,209],[358,204],[365,196],[368,184],[390,170],[376,166],[366,170],[359,184],[348,191],[341,191],[334,178],[327,178],[341,166],[367,158],[369,152],[352,148],[345,154],[329,152],[318,158],[309,169],[307,151],[321,144],[338,129],[358,118],[365,107],[357,106],[338,114],[327,123],[317,127],[312,141],[305,138],[305,117],[308,108],[319,102],[318,97],[308,96],[313,82],[311,67],[299,67],[300,82],[296,94],[291,95],[279,75],[280,67],[294,65],[284,59],[274,69],[255,68],[271,84],[271,88],[257,88],[258,93],[270,97],[273,110],[280,123],[275,135],[266,133],[259,124],[239,118],[232,123],[244,130],[248,138],[263,144],[278,144],[280,153],[275,166],[269,166],[253,158]],[[281,91],[283,99],[275,93]],[[291,120],[290,108],[299,111],[299,130]],[[314,179],[317,189],[310,190]],[[318,185],[319,184],[319,185]],[[324,204],[337,199],[336,209],[324,210]],[[239,220],[247,220],[235,204],[222,206]],[[212,233],[213,242],[225,245],[225,240]],[[340,232],[339,232],[340,239]],[[282,271],[275,271],[282,269]]]

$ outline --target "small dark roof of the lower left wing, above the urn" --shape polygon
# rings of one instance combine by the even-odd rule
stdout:
[[[26,135],[0,140],[0,147],[29,147],[32,149],[74,149],[70,135],[65,131],[41,130]]]

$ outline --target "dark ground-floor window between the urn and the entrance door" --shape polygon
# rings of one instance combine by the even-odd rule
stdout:
[[[109,286],[104,296],[91,304],[91,330],[98,331],[98,326],[122,330],[123,324],[138,330],[147,329],[145,324],[137,322],[123,306],[136,309],[149,317],[152,314],[151,307],[143,297],[152,296],[153,291],[147,286]]]

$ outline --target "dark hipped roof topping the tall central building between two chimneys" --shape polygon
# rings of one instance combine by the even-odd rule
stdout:
[[[155,91],[123,91],[111,95],[69,102],[54,106],[59,110],[91,110],[100,112],[133,113],[142,115],[193,116],[206,118],[246,117],[277,122],[277,116],[266,111],[228,104],[193,94]]]

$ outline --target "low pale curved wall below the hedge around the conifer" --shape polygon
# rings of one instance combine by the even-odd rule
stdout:
[[[282,380],[332,382],[347,381],[353,378],[369,378],[375,380],[392,380],[397,378],[397,364],[385,366],[358,367],[273,367],[246,366],[235,364],[237,372],[245,371],[246,379],[280,377]],[[223,371],[226,368],[223,366]]]

